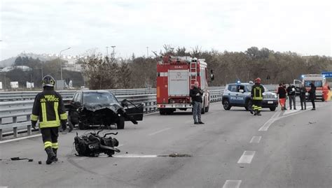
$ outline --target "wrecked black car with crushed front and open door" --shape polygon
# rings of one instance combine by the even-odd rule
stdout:
[[[129,107],[128,107],[129,106]],[[143,120],[143,104],[135,106],[126,99],[118,102],[116,96],[106,90],[81,90],[67,104],[69,123],[78,124],[79,129],[90,126],[116,125],[125,128],[125,121],[137,124]]]

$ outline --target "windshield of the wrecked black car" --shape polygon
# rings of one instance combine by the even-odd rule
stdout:
[[[116,97],[113,96],[113,94],[111,93],[91,92],[83,94],[83,103],[105,104],[105,103],[118,103],[118,101],[116,100]]]

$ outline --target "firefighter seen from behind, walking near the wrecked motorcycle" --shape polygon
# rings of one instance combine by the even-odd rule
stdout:
[[[37,94],[32,108],[31,122],[35,129],[39,120],[39,129],[43,138],[44,148],[47,153],[46,164],[57,161],[57,137],[60,124],[66,129],[67,113],[64,108],[62,96],[55,92],[55,80],[46,75],[42,80],[43,92]]]

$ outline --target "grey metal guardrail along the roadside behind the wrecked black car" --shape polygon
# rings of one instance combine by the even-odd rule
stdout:
[[[221,101],[224,88],[225,87],[209,87],[210,101],[212,103]],[[268,86],[268,89],[275,88],[275,85]],[[114,89],[110,91],[116,95],[116,98],[119,101],[122,101],[123,99],[128,99],[132,101],[135,105],[144,103],[144,113],[151,113],[157,110],[155,89]],[[60,91],[64,98],[64,101],[69,101],[69,99],[71,99],[71,97],[73,96],[74,92],[75,91]],[[34,100],[32,99],[34,99],[37,92],[9,93],[16,95],[16,101],[0,102],[0,140],[2,140],[4,129],[13,129],[14,137],[18,136],[18,127],[22,128],[26,126],[27,134],[31,135],[32,133],[30,115],[32,113],[32,106],[34,103]],[[18,96],[24,98],[23,101],[19,101]],[[14,99],[14,97],[12,99]]]

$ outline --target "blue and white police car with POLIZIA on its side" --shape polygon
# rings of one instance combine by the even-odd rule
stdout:
[[[253,85],[252,82],[237,82],[226,85],[222,97],[223,108],[225,110],[230,110],[232,106],[240,106],[249,110],[252,106],[251,87]],[[262,108],[270,108],[271,111],[275,111],[275,108],[278,106],[277,94],[269,92],[266,87],[264,87],[264,90]]]

